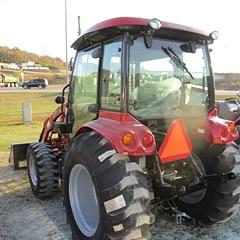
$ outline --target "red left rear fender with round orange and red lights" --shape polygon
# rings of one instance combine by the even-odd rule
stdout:
[[[152,132],[129,113],[100,111],[99,118],[84,124],[76,133],[92,129],[102,135],[119,153],[131,156],[156,154],[156,143]],[[126,133],[134,136],[130,145],[124,145],[122,138]],[[152,138],[152,144],[144,144],[145,137]]]

